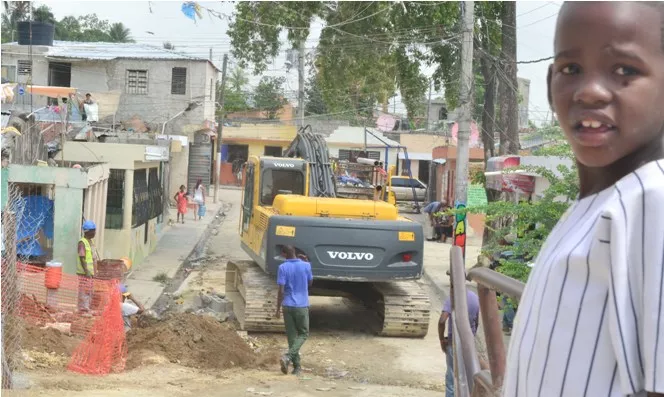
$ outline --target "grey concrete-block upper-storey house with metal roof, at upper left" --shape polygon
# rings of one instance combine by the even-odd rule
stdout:
[[[33,85],[74,87],[79,94],[91,93],[100,121],[115,118],[121,122],[137,116],[162,125],[171,120],[166,124],[167,133],[181,133],[188,124],[214,121],[219,70],[205,58],[161,47],[66,41],[32,47],[5,43],[2,72],[19,86],[32,78]],[[192,102],[199,106],[183,112]],[[53,99],[43,95],[31,98],[26,90],[17,95],[14,108],[37,109],[52,103]]]

